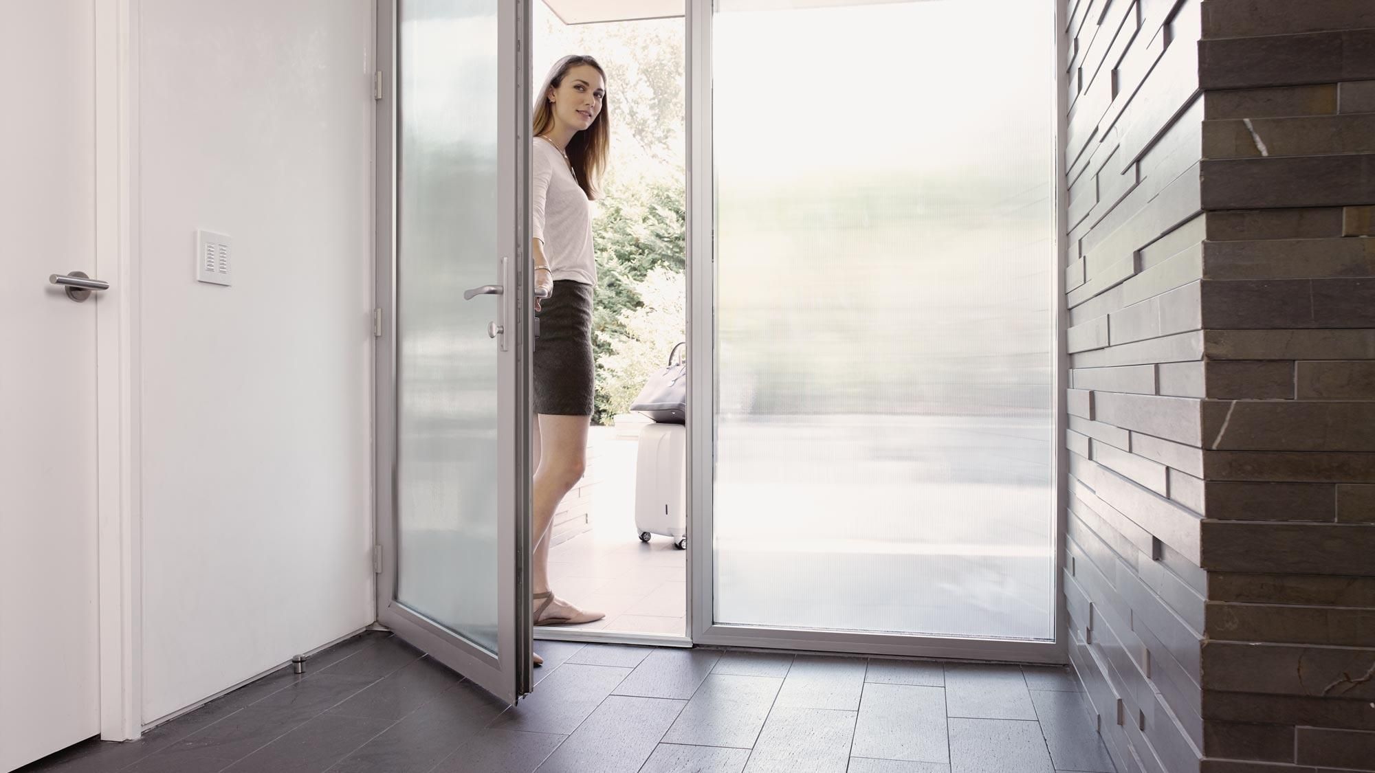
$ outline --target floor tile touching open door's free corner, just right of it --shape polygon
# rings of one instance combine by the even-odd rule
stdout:
[[[531,695],[499,714],[492,728],[566,736],[619,685],[630,668],[564,663]]]

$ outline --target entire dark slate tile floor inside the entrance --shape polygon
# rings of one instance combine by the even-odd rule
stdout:
[[[506,707],[368,631],[125,744],[22,773],[1114,773],[1072,675],[538,642]]]

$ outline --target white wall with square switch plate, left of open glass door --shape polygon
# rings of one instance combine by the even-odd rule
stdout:
[[[374,619],[373,8],[138,15],[148,722]],[[194,281],[197,228],[232,287]]]

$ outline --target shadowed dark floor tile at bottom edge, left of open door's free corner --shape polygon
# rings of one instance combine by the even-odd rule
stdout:
[[[428,773],[506,710],[470,682],[451,686],[349,754],[330,773]]]

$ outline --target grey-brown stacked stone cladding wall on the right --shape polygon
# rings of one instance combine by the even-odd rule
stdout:
[[[1070,655],[1123,773],[1375,770],[1375,0],[1068,0]]]

